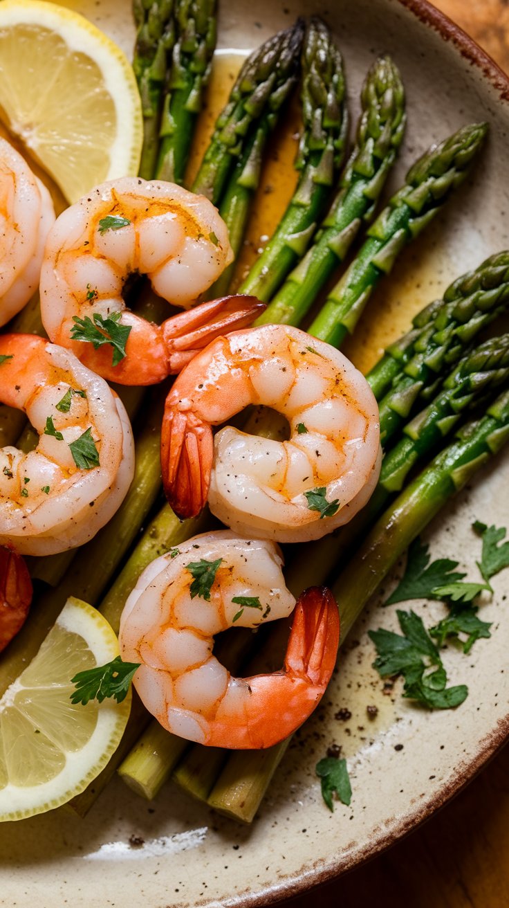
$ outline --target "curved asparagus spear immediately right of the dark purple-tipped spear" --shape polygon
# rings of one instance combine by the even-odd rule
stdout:
[[[295,167],[299,183],[279,226],[241,284],[267,301],[304,254],[327,203],[347,141],[343,60],[327,25],[310,20],[302,53],[304,130]]]

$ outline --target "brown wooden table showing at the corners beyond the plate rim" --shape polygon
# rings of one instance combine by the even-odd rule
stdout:
[[[376,0],[373,0],[376,2]],[[509,0],[435,0],[509,72]],[[284,908],[509,908],[509,747],[399,844]]]

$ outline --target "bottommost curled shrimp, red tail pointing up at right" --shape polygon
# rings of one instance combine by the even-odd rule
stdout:
[[[299,597],[282,671],[237,678],[212,655],[220,631],[291,613],[295,599],[281,564],[273,542],[220,530],[156,558],[139,577],[122,612],[122,658],[141,663],[134,686],[174,735],[215,747],[270,747],[318,705],[339,640],[338,606],[326,589]]]

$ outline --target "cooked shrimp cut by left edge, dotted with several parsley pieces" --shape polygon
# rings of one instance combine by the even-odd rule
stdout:
[[[33,334],[0,336],[0,401],[24,410],[39,433],[29,453],[0,449],[0,545],[22,555],[83,545],[131,485],[122,402],[70,350]]]

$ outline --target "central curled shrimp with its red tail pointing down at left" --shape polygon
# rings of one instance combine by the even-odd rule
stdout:
[[[288,441],[211,427],[248,404],[289,420]],[[264,325],[218,338],[181,371],[162,421],[171,507],[203,507],[241,535],[318,539],[350,520],[378,479],[377,402],[366,379],[327,343]]]

